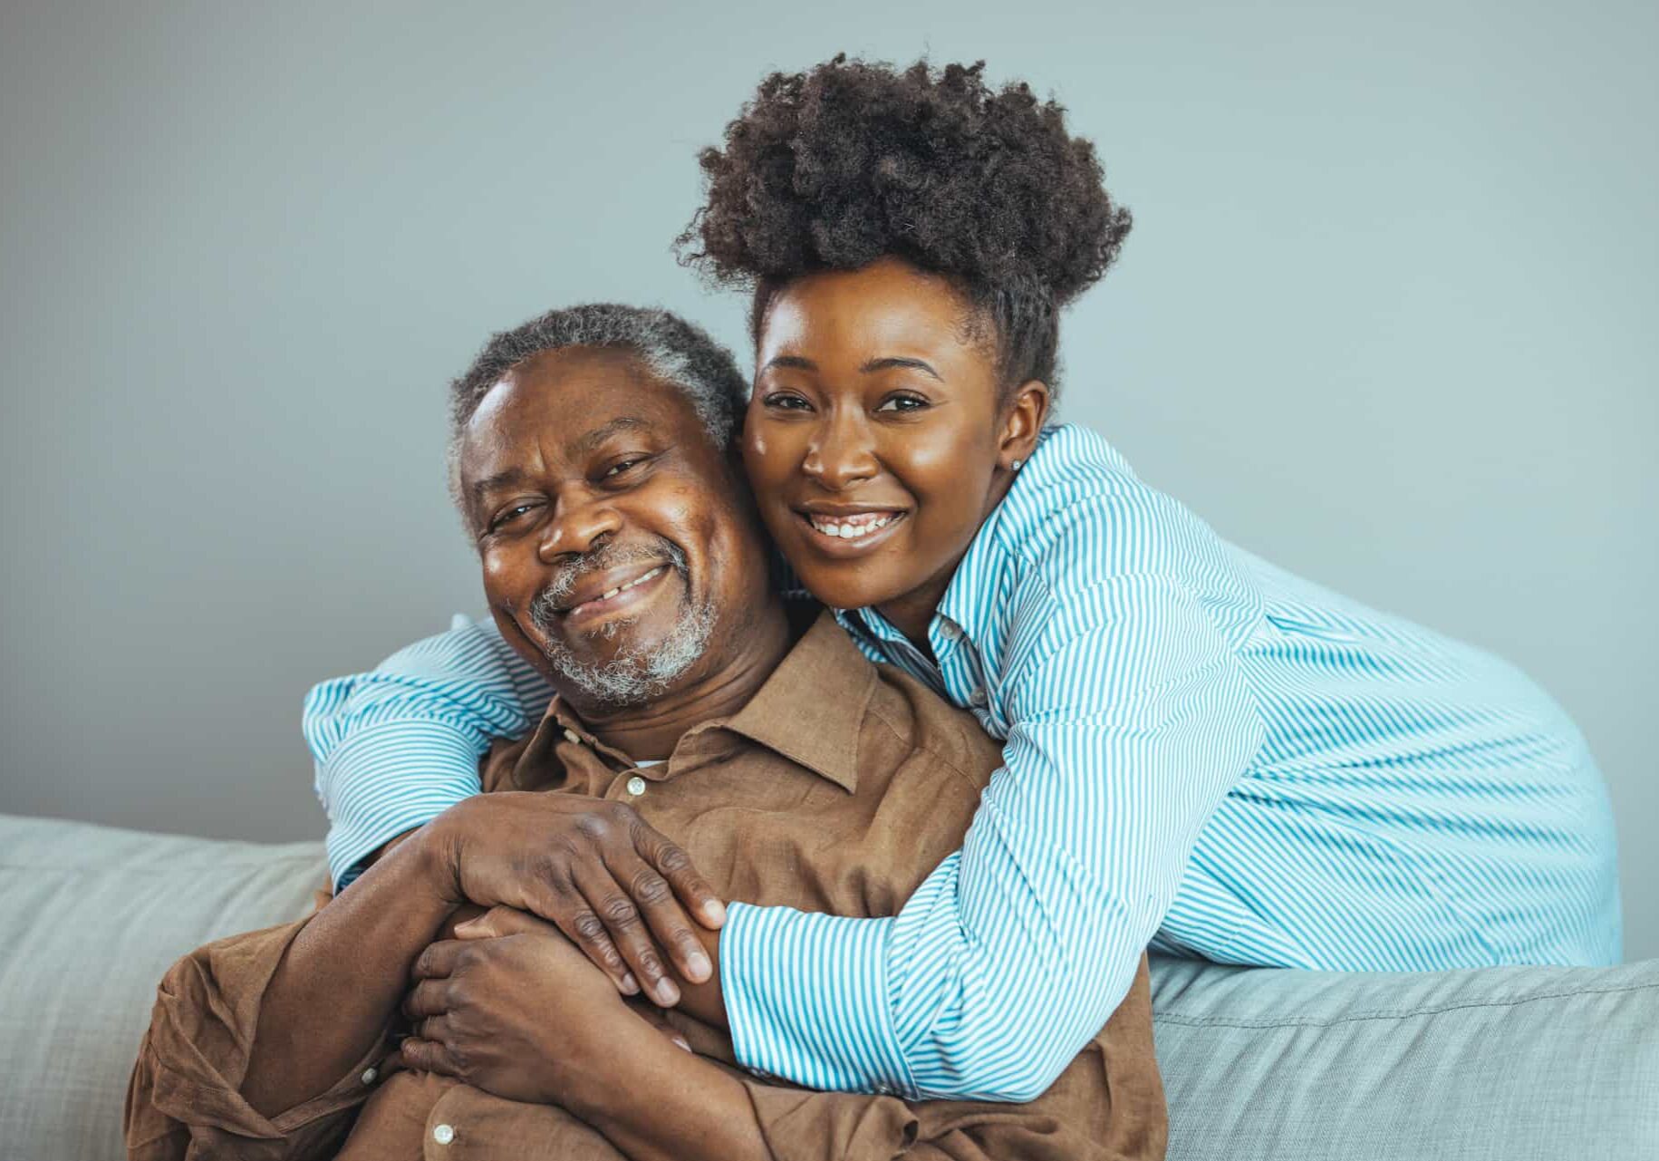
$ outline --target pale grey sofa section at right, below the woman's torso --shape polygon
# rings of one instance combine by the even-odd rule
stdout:
[[[1153,960],[1170,1158],[1659,1158],[1659,960],[1349,974]]]

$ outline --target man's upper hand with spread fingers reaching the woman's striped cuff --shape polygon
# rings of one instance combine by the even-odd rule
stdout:
[[[433,823],[455,902],[506,906],[551,921],[624,995],[680,1000],[664,967],[702,984],[713,965],[692,919],[720,927],[725,907],[690,856],[632,806],[576,794],[469,798]]]

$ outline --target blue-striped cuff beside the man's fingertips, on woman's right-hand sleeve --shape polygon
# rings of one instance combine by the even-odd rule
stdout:
[[[808,1088],[916,1095],[888,997],[891,919],[727,904],[720,989],[752,1071]]]

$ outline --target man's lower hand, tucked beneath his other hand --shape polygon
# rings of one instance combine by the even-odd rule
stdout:
[[[405,1066],[508,1100],[564,1105],[572,1085],[594,1083],[615,1047],[639,1033],[642,1015],[552,924],[494,907],[456,935],[415,962],[403,1002],[415,1035],[398,1050]]]

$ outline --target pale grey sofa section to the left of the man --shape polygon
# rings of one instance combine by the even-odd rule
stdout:
[[[116,1161],[173,960],[304,916],[320,843],[264,846],[0,814],[0,1156]]]

